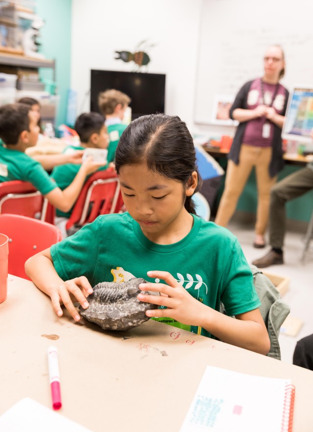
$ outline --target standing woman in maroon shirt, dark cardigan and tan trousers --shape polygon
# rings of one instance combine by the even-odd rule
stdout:
[[[281,132],[289,91],[279,84],[285,74],[284,52],[269,46],[264,56],[264,75],[248,81],[238,92],[230,117],[239,121],[228,155],[224,193],[215,223],[226,227],[251,170],[255,167],[258,205],[253,246],[265,246],[269,192],[283,168]]]

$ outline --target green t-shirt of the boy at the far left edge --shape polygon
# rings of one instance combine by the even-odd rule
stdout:
[[[12,180],[32,183],[42,195],[57,187],[37,160],[19,150],[11,150],[0,145],[0,182]]]

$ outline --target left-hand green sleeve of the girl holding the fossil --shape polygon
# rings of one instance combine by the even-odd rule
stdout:
[[[97,219],[50,249],[54,268],[63,280],[86,276],[93,278],[99,249]]]

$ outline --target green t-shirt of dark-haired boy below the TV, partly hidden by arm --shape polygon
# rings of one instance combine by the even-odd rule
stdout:
[[[63,153],[67,153],[68,151],[72,150],[85,150],[86,147],[77,147],[77,146],[67,146],[67,148],[64,150]],[[74,180],[76,177],[76,174],[79,171],[79,168],[81,165],[79,163],[65,163],[64,165],[58,165],[55,166],[51,172],[51,178],[55,180],[57,185],[61,190],[64,190],[67,188],[67,186],[70,185],[70,183]],[[102,171],[108,168],[108,164],[104,165],[103,167],[99,168],[98,171]],[[89,179],[90,176],[86,177],[86,180]],[[74,206],[73,206],[74,207]],[[56,215],[60,217],[69,218],[73,207],[67,212],[63,212],[59,209],[56,209]]]

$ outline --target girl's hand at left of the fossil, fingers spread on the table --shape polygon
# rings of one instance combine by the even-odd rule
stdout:
[[[66,280],[50,295],[53,310],[58,317],[61,317],[63,315],[61,304],[63,303],[75,321],[79,321],[80,315],[74,306],[72,298],[76,299],[81,304],[81,306],[86,309],[89,306],[86,298],[89,296],[89,294],[92,294],[92,292],[91,285],[85,276]]]

